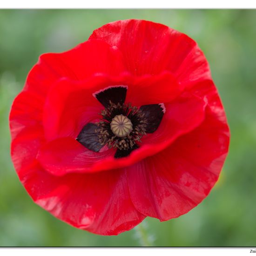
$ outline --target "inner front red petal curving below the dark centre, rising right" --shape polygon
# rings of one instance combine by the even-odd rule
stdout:
[[[113,148],[95,153],[74,138],[66,137],[40,148],[37,159],[54,175],[91,173],[132,165],[167,148],[179,136],[200,125],[204,120],[205,106],[205,101],[189,93],[166,104],[166,113],[155,133],[142,137],[140,148],[134,149],[127,157],[114,158],[116,149]]]

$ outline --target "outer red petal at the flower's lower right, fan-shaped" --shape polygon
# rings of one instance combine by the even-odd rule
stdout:
[[[226,122],[208,108],[205,121],[194,131],[127,168],[136,209],[161,221],[187,213],[216,183],[228,147]]]

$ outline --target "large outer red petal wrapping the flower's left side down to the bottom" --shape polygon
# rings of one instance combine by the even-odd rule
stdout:
[[[13,164],[34,201],[63,221],[101,235],[132,229],[145,217],[134,208],[123,174],[113,172],[109,181],[103,173],[57,177],[46,172],[36,156],[46,142],[42,118],[49,88],[62,77],[84,79],[95,72],[119,74],[119,57],[115,47],[98,40],[67,54],[42,55],[29,73],[24,90],[14,100],[10,114]],[[75,58],[79,63],[74,64]],[[72,64],[82,66],[80,72]],[[116,193],[123,195],[122,199]],[[117,209],[117,205],[121,207]],[[108,214],[111,211],[115,211],[115,218],[114,213]]]

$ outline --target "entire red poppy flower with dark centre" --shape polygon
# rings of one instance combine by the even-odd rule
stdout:
[[[194,40],[121,20],[43,54],[10,114],[12,159],[34,202],[101,235],[166,221],[218,179],[229,128]]]

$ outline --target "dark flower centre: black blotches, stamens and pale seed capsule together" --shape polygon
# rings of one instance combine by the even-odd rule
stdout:
[[[116,148],[114,158],[121,158],[139,148],[144,135],[155,132],[165,113],[164,103],[137,108],[124,103],[127,89],[128,86],[110,86],[93,94],[105,109],[99,122],[82,128],[78,142],[94,152]]]

